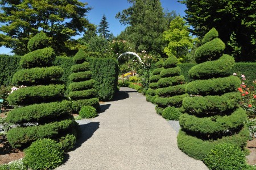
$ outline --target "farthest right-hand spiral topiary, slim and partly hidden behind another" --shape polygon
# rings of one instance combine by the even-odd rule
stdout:
[[[152,76],[150,77],[150,85],[146,92],[146,100],[151,103],[155,103],[156,98],[156,89],[158,88],[158,80],[161,78],[160,72],[163,68],[163,60],[158,61],[155,66],[157,67],[152,72]]]

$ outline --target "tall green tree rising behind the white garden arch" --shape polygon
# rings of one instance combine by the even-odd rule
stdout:
[[[128,0],[132,6],[115,15],[121,24],[128,24],[126,31],[129,42],[136,51],[162,54],[162,33],[167,28],[160,1]]]

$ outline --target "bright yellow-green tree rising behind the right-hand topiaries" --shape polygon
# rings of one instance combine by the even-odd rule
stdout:
[[[170,28],[163,32],[163,38],[168,42],[164,52],[168,56],[175,55],[178,62],[183,62],[184,57],[193,47],[193,39],[189,36],[189,26],[185,20],[177,16],[170,23]]]

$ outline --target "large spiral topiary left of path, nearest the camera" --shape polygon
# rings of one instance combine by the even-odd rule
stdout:
[[[7,121],[18,127],[7,132],[7,140],[13,147],[26,148],[37,139],[52,138],[69,150],[75,145],[78,125],[70,114],[71,102],[63,100],[65,86],[56,84],[63,69],[52,66],[55,53],[51,47],[42,48],[40,37],[31,39],[37,42],[30,43],[34,51],[22,56],[23,69],[13,76],[15,85],[26,87],[8,97],[9,104],[18,107],[9,112]]]

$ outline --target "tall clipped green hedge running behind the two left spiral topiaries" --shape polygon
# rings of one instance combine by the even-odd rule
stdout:
[[[15,85],[13,84],[13,76],[21,68],[19,61],[20,56],[0,55],[0,85]],[[53,61],[53,65],[63,68],[64,73],[60,81],[68,87],[71,84],[71,80],[69,79],[69,75],[72,73],[71,67],[75,65],[73,58],[58,56]],[[98,92],[97,97],[103,101],[112,99],[114,93],[117,91],[117,61],[114,59],[89,59],[89,67],[92,71],[92,78],[96,80],[94,88]],[[68,96],[68,93],[69,89],[67,88],[65,96]]]

